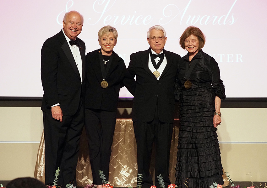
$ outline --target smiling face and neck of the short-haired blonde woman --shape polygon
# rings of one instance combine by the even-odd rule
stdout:
[[[102,55],[111,55],[117,40],[115,39],[113,33],[109,32],[108,35],[102,36],[98,43],[101,46]]]

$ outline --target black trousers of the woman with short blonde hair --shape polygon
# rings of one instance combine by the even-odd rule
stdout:
[[[108,181],[116,114],[117,112],[85,108],[85,129],[93,181],[96,185],[102,184],[99,170],[103,171]]]

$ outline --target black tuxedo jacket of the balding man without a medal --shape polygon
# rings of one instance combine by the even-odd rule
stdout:
[[[44,90],[41,110],[51,113],[60,104],[63,115],[77,112],[85,78],[85,44],[79,41],[83,65],[82,80],[63,31],[47,39],[41,49],[41,80]]]

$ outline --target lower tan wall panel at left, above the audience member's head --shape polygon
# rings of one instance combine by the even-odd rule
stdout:
[[[34,177],[39,144],[0,144],[0,180]]]

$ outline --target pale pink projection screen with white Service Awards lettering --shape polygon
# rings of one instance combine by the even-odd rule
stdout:
[[[219,64],[226,97],[267,97],[266,7],[266,0],[1,0],[0,96],[42,97],[42,44],[62,29],[66,12],[77,10],[86,53],[100,48],[97,32],[111,25],[118,31],[113,50],[126,66],[130,54],[149,48],[151,26],[163,26],[165,49],[181,56],[187,53],[181,34],[197,26],[207,37],[203,51]],[[133,96],[124,87],[120,97]]]

